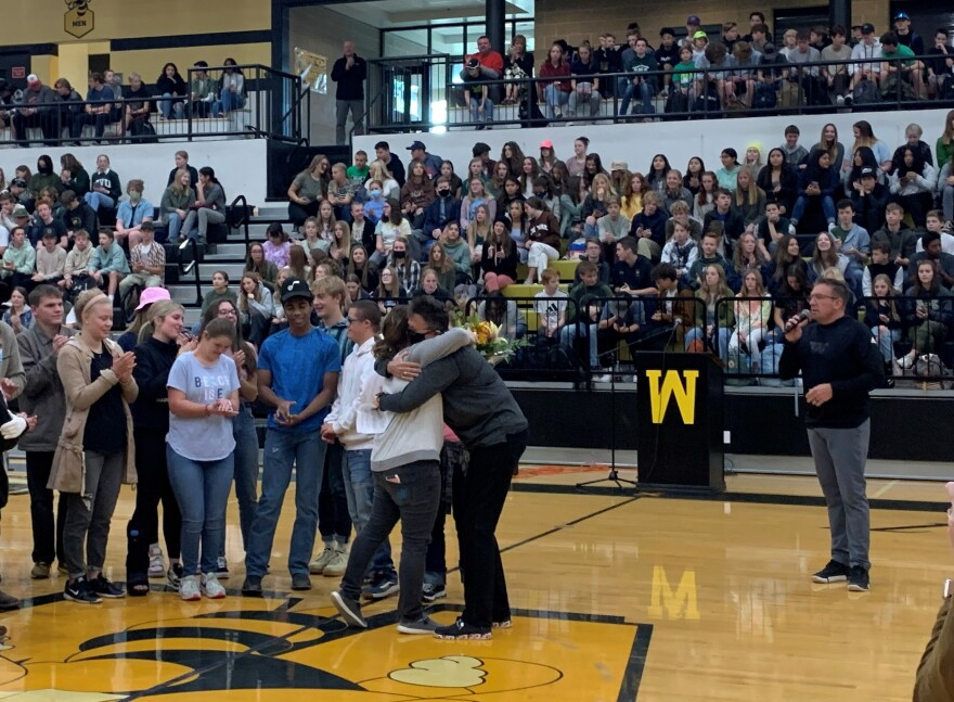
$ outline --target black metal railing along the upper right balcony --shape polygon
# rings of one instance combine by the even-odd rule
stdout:
[[[937,56],[917,56],[923,63]],[[954,100],[926,100],[915,94],[907,78],[888,85],[875,84],[872,102],[843,104],[839,97],[853,99],[851,76],[858,64],[898,67],[911,59],[868,59],[862,61],[818,61],[811,63],[713,66],[693,69],[686,76],[681,97],[661,97],[671,88],[672,71],[600,74],[589,78],[527,77],[463,82],[464,68],[448,54],[425,54],[370,61],[366,123],[370,131],[395,132],[430,129],[437,126],[479,128],[492,125],[524,127],[567,122],[622,123],[655,119],[719,119],[727,116],[812,114],[839,110],[911,110],[954,105]],[[833,78],[845,67],[847,77]],[[817,77],[811,76],[814,71]],[[921,69],[924,73],[924,69]],[[921,74],[923,75],[923,74]],[[455,79],[457,81],[455,81]],[[954,76],[947,74],[947,80]],[[598,99],[581,94],[573,82],[589,81]],[[636,82],[634,82],[636,81]],[[552,84],[563,84],[549,88]],[[642,88],[642,84],[647,89]],[[679,78],[675,77],[676,86]],[[924,89],[928,81],[924,79]],[[492,118],[472,114],[465,106],[464,91],[470,86],[486,91],[492,102]],[[732,86],[731,88],[729,86]],[[644,92],[645,90],[645,92]],[[547,92],[551,93],[547,97]],[[630,93],[629,97],[627,93]],[[672,95],[673,90],[669,91]],[[940,92],[940,91],[939,91]],[[512,93],[513,102],[502,104]],[[575,111],[571,111],[570,98]],[[731,95],[738,98],[732,99]],[[473,97],[472,97],[473,99]],[[557,110],[558,109],[558,112]]]

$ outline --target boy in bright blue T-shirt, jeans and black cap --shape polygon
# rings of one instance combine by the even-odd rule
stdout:
[[[245,547],[243,595],[259,596],[268,570],[275,527],[295,467],[295,523],[288,548],[292,588],[311,589],[308,561],[318,528],[318,492],[325,445],[321,425],[327,416],[338,374],[340,352],[334,340],[311,326],[308,283],[288,278],[280,290],[288,329],[269,336],[258,356],[258,398],[269,408],[265,438],[261,498]],[[302,363],[302,359],[308,362]]]

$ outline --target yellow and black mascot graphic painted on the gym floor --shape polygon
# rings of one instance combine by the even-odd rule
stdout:
[[[322,600],[38,598],[2,618],[0,702],[633,699],[648,646],[640,634],[652,630],[526,612],[491,641],[439,641],[397,634],[395,612],[347,629]],[[457,609],[434,616],[449,623]]]

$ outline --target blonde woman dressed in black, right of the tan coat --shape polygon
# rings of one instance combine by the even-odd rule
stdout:
[[[147,595],[149,578],[164,575],[163,551],[158,545],[159,501],[163,502],[163,534],[169,556],[169,570],[165,573],[169,586],[177,588],[182,575],[179,564],[182,516],[169,485],[166,465],[166,434],[169,433],[166,383],[180,344],[189,347],[182,331],[184,315],[179,303],[169,299],[153,303],[149,321],[139,335],[140,344],[134,349],[132,376],[139,385],[139,397],[130,409],[139,484],[136,511],[127,526],[126,579],[131,596]]]

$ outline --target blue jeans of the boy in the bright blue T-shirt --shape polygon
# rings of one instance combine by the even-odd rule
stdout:
[[[318,490],[324,472],[325,443],[317,431],[269,429],[265,435],[261,498],[245,546],[245,572],[265,575],[282,513],[285,490],[295,468],[295,524],[288,548],[288,572],[308,574],[318,529]]]

